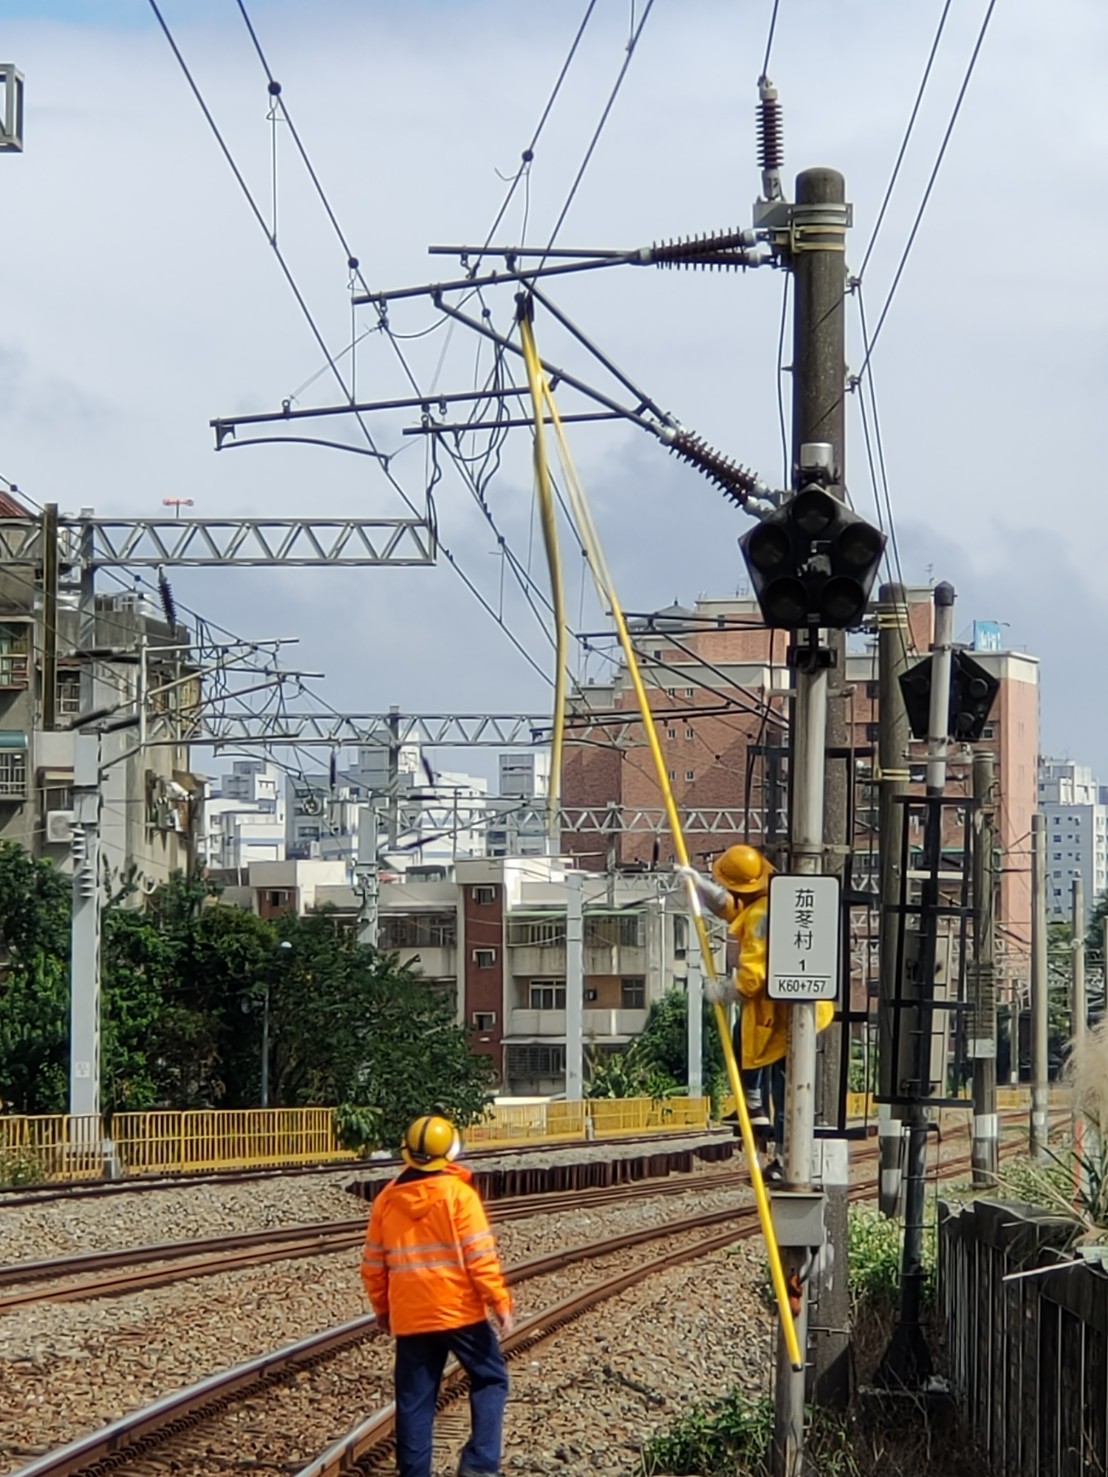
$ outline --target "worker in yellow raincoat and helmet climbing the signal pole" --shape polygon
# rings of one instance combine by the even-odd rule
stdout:
[[[784,1174],[780,1155],[784,1145],[784,1058],[789,1050],[789,1003],[771,1000],[765,993],[765,948],[768,932],[768,894],[773,866],[753,846],[728,846],[712,863],[712,877],[694,868],[680,868],[690,876],[705,907],[724,919],[739,948],[734,972],[715,985],[714,998],[739,1000],[740,1066],[743,1096],[755,1133],[770,1127],[765,1092],[773,1103],[774,1156],[764,1176],[771,1183]],[[709,984],[709,993],[712,985]],[[815,1029],[823,1031],[835,1006],[821,1000],[815,1009]]]

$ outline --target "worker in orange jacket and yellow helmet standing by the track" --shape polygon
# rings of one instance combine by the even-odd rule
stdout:
[[[496,1242],[448,1118],[417,1118],[403,1136],[408,1168],[374,1201],[362,1282],[377,1326],[396,1338],[396,1471],[430,1477],[434,1405],[446,1356],[470,1377],[470,1440],[459,1477],[496,1477],[508,1371],[502,1335],[514,1328]]]

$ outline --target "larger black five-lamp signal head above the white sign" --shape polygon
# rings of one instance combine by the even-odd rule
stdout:
[[[810,483],[739,541],[767,626],[861,625],[885,535]]]

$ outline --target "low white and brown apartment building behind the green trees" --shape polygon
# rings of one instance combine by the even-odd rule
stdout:
[[[326,868],[326,870],[325,870]],[[600,1059],[643,1031],[650,1003],[684,987],[688,920],[671,877],[584,880],[585,1052]],[[334,863],[254,864],[244,902],[263,916],[331,907],[353,926],[360,899]],[[378,941],[455,1004],[507,1096],[564,1092],[566,861],[459,861],[451,876],[384,880]],[[722,964],[722,935],[719,939]]]

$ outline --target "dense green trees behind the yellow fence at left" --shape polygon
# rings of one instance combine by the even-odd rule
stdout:
[[[65,1109],[69,882],[0,845],[0,1099]],[[394,1146],[431,1102],[459,1124],[485,1111],[492,1063],[452,1001],[325,913],[260,919],[174,877],[145,907],[105,907],[102,1084],[108,1112],[259,1102],[263,1016],[270,1103],[344,1103],[359,1148]],[[287,945],[287,947],[285,947]],[[12,1158],[12,1155],[9,1155]],[[12,1183],[24,1170],[4,1167]]]

